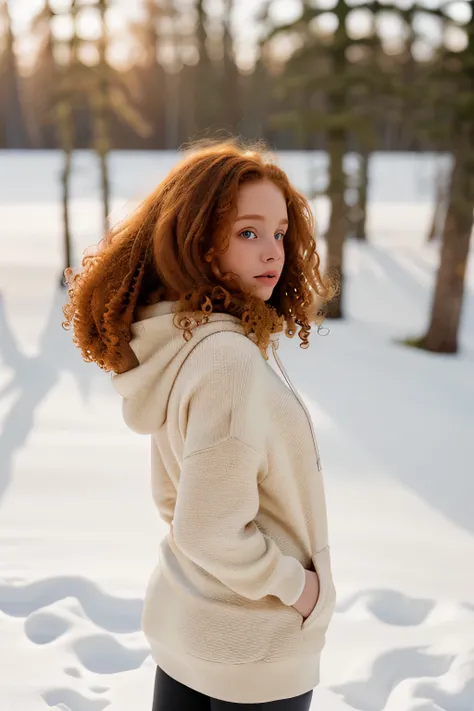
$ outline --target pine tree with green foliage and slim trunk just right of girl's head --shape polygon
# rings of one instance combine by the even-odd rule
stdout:
[[[374,3],[358,7],[374,10]],[[288,62],[281,88],[285,97],[298,92],[302,106],[298,112],[280,113],[276,122],[293,126],[299,132],[302,145],[312,145],[311,135],[324,136],[329,159],[329,180],[326,194],[330,201],[329,227],[326,232],[328,273],[339,284],[339,293],[328,307],[328,316],[343,316],[344,242],[349,232],[346,204],[347,176],[344,156],[351,137],[368,152],[375,144],[375,131],[364,102],[364,91],[373,95],[381,92],[383,74],[373,61],[353,61],[351,51],[357,48],[363,57],[371,57],[380,45],[375,32],[354,39],[348,31],[348,16],[353,10],[346,0],[337,0],[331,12],[337,27],[330,35],[312,29],[325,8],[305,0],[301,16],[294,23],[275,28],[272,39],[281,33],[299,36],[300,48]],[[362,90],[362,99],[361,99]],[[365,187],[365,190],[367,188]],[[361,193],[363,198],[363,192]],[[365,214],[365,206],[360,205]]]

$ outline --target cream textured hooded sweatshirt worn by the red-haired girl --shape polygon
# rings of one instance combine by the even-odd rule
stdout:
[[[154,661],[208,696],[299,696],[318,684],[335,603],[310,416],[237,318],[213,314],[185,341],[172,309],[142,310],[130,344],[139,366],[113,377],[126,423],[151,435],[153,497],[169,525],[143,630]],[[292,605],[305,568],[320,595],[304,621]]]

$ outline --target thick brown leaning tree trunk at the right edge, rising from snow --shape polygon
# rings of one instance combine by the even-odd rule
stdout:
[[[472,156],[458,154],[454,165],[441,263],[433,299],[431,323],[420,345],[435,353],[457,353],[464,277],[473,226]]]

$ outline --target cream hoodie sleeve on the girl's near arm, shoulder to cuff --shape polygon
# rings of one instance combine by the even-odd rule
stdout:
[[[173,520],[175,543],[242,597],[274,595],[293,605],[301,563],[258,528],[259,482],[267,471],[266,365],[247,338],[214,334],[195,348],[188,375],[185,454]]]

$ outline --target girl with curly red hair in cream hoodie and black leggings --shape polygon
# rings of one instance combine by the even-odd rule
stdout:
[[[151,436],[169,526],[142,618],[154,711],[310,708],[335,590],[318,447],[276,345],[307,347],[330,296],[313,234],[264,152],[199,147],[68,275],[65,326]]]

